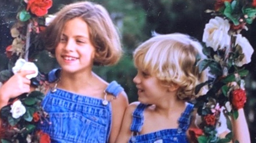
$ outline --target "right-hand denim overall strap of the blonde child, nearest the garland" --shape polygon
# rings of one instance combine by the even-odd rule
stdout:
[[[186,132],[189,125],[190,125],[190,119],[191,119],[191,113],[193,112],[194,104],[187,103],[185,111],[181,114],[181,117],[179,119],[179,128],[178,131]]]

